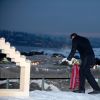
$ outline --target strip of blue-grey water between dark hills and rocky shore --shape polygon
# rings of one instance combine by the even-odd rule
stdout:
[[[70,48],[39,48],[39,47],[30,47],[30,46],[15,46],[18,51],[21,52],[30,52],[30,51],[44,51],[46,54],[60,53],[66,57],[70,53]],[[100,58],[100,48],[93,48],[95,56]]]

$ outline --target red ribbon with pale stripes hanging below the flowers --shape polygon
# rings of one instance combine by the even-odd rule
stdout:
[[[76,87],[79,87],[79,65],[74,64],[72,67],[72,73],[70,77],[70,89],[73,91]]]

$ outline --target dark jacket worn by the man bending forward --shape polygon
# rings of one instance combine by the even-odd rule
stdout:
[[[87,56],[95,58],[92,46],[91,46],[89,40],[85,37],[77,35],[72,40],[72,49],[67,58],[68,60],[71,60],[72,57],[74,57],[76,50],[79,52],[81,60],[83,60]]]

